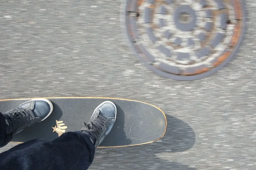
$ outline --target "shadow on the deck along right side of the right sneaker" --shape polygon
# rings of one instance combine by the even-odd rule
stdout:
[[[127,139],[126,133],[124,131],[125,117],[124,111],[116,103],[116,121],[109,132],[105,137],[99,147],[104,146],[125,146],[132,143],[130,139]]]

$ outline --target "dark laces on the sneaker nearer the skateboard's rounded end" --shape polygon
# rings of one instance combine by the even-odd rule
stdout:
[[[84,122],[85,128],[83,130],[88,130],[95,139],[98,139],[101,130],[107,125],[107,122],[108,120],[105,117],[98,115],[96,119],[90,121],[88,124]]]

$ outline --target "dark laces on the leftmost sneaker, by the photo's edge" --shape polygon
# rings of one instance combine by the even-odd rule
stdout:
[[[35,116],[32,113],[31,109],[22,109],[22,110],[14,111],[8,115],[11,119],[11,123],[9,126],[13,126],[14,133],[20,127],[27,126],[31,120],[35,119]]]

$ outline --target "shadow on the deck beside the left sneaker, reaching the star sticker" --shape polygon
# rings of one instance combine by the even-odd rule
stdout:
[[[52,101],[51,101],[52,102]],[[36,123],[20,133],[13,136],[13,142],[26,142],[32,139],[55,139],[58,137],[57,133],[49,133],[53,131],[53,128],[56,125],[56,120],[59,120],[62,117],[62,110],[59,106],[52,102],[53,104],[53,112],[49,116],[49,118],[41,121],[40,123]],[[43,130],[42,130],[43,129]],[[28,138],[28,136],[30,138]]]

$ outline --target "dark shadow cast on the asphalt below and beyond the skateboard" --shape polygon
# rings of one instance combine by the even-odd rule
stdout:
[[[186,122],[173,116],[166,115],[166,118],[168,121],[167,130],[159,141],[124,148],[97,149],[94,162],[89,170],[115,169],[116,167],[123,170],[197,170],[187,165],[186,162],[184,164],[175,162],[180,161],[180,157],[175,158],[173,155],[175,152],[187,151],[194,146],[195,133],[193,129]],[[187,159],[187,156],[184,155],[182,160],[186,161]]]

